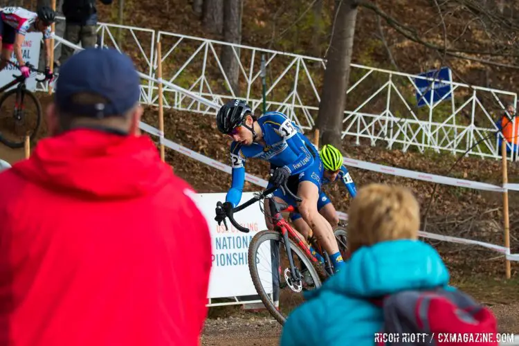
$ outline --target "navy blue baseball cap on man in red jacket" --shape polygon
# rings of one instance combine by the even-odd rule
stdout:
[[[100,95],[107,102],[81,104],[74,98],[78,93]],[[140,77],[128,55],[113,48],[86,48],[61,66],[54,100],[65,113],[105,118],[125,114],[139,95]]]

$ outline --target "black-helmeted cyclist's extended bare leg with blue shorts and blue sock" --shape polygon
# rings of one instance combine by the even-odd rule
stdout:
[[[305,170],[304,174],[300,174],[298,197],[302,199],[302,202],[299,203],[298,209],[304,221],[313,230],[313,234],[322,248],[329,254],[334,268],[338,271],[344,265],[343,257],[340,256],[334,231],[327,219],[320,215],[317,209],[321,179],[322,162],[316,159],[316,162]]]

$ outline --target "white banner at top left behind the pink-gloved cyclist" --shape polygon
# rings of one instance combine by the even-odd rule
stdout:
[[[38,68],[39,63],[39,48],[41,46],[42,37],[42,33],[27,33],[24,43],[21,45],[21,54],[24,56],[24,61],[33,65],[36,69]],[[11,62],[18,64],[14,52],[11,55]],[[18,76],[20,74],[21,72],[17,67],[8,64],[5,69],[0,71],[0,84],[2,86],[6,85],[14,79],[12,75]],[[28,90],[36,90],[36,78],[36,73],[32,73],[31,77],[26,79],[25,84]],[[42,76],[39,78],[42,78]],[[16,86],[13,86],[12,88],[15,87]]]

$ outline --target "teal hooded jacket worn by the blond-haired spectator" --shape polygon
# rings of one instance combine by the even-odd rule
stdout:
[[[392,240],[356,251],[321,289],[309,291],[283,328],[282,346],[373,346],[382,309],[369,298],[446,285],[449,275],[434,248],[419,240]]]

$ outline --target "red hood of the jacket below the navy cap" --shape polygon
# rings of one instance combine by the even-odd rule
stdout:
[[[39,141],[13,172],[43,188],[89,199],[152,194],[172,179],[147,136],[74,129]]]

